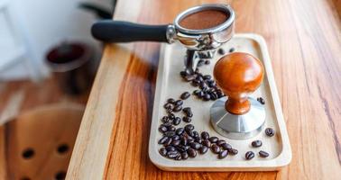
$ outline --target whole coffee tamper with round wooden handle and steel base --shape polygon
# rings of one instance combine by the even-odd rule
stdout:
[[[228,54],[217,61],[213,75],[228,98],[218,99],[210,116],[213,127],[222,136],[249,139],[263,129],[263,104],[249,97],[261,85],[263,71],[259,59],[243,52]]]

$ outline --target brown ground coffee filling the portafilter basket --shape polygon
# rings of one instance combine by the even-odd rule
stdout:
[[[180,26],[189,30],[205,30],[225,23],[229,15],[219,10],[204,10],[189,14],[180,20]]]

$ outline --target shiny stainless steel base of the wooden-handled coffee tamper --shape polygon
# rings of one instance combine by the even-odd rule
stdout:
[[[250,111],[235,115],[226,111],[226,100],[226,97],[218,99],[210,110],[211,124],[220,135],[229,139],[250,139],[262,131],[265,122],[262,103],[249,97]]]

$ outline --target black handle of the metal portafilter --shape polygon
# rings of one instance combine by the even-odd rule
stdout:
[[[121,21],[103,20],[94,23],[91,33],[105,42],[160,41],[168,42],[168,25],[145,25]]]

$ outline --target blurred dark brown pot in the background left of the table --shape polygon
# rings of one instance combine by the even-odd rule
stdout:
[[[57,77],[60,88],[67,94],[82,94],[92,84],[91,59],[93,52],[81,42],[63,42],[52,48],[46,64]]]

